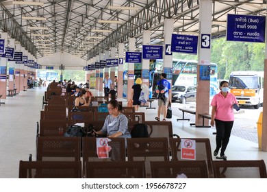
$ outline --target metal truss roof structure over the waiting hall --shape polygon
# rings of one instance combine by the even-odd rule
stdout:
[[[201,0],[0,0],[0,29],[36,58],[65,51],[89,60],[151,30],[163,44],[164,19],[177,34],[199,34]],[[211,0],[212,1],[212,0]],[[212,37],[225,36],[227,14],[266,16],[266,0],[213,0]]]

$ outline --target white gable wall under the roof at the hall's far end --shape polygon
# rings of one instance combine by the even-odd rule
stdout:
[[[38,58],[37,62],[42,65],[42,69],[45,69],[46,66],[53,66],[54,69],[58,69],[63,64],[66,70],[83,70],[84,66],[86,66],[86,60],[66,52],[61,55],[61,51],[53,53],[51,56]]]

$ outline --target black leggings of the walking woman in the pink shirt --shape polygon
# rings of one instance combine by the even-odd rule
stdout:
[[[216,151],[220,149],[220,155],[225,155],[225,149],[229,143],[233,121],[220,121],[215,119],[216,124]]]

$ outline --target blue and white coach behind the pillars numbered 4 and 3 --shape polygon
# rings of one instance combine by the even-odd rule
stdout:
[[[196,69],[198,62],[196,60],[179,60],[173,59],[173,85],[196,86]],[[150,91],[155,91],[155,85],[160,80],[162,73],[163,60],[155,60],[150,65]],[[210,90],[209,95],[216,95],[218,70],[217,64],[210,64]]]

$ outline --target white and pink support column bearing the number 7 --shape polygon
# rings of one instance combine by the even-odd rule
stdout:
[[[123,54],[124,54],[124,43],[118,43],[118,89],[117,97],[123,98]]]

